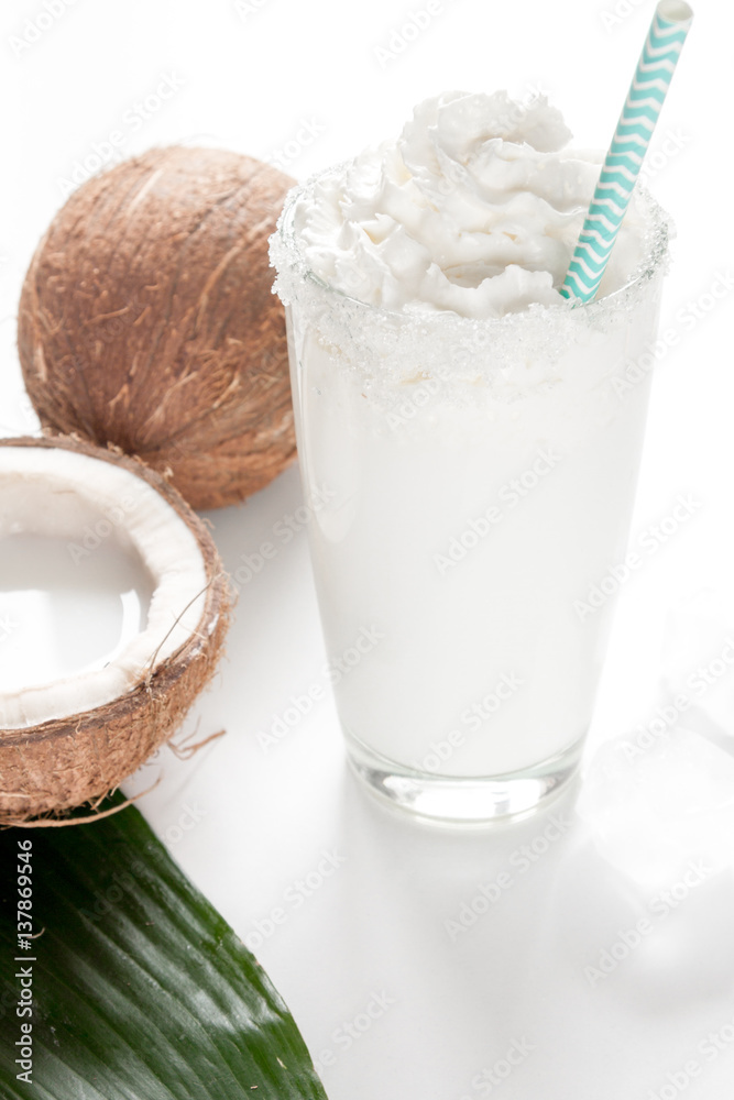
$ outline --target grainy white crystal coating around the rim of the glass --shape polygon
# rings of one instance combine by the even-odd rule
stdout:
[[[642,256],[624,285],[605,297],[574,308],[559,296],[555,305],[534,302],[517,312],[485,318],[450,309],[421,312],[373,306],[326,283],[304,257],[294,228],[295,209],[328,172],[286,196],[270,241],[271,266],[276,271],[273,293],[286,309],[295,307],[298,323],[310,329],[324,348],[335,349],[340,365],[358,376],[370,399],[385,405],[396,397],[397,387],[425,378],[446,387],[453,400],[469,404],[476,400],[481,386],[501,402],[540,393],[556,385],[557,362],[582,330],[626,328],[633,310],[648,296],[659,295],[661,276],[668,271],[673,223],[638,186]],[[521,341],[526,352],[522,359]]]

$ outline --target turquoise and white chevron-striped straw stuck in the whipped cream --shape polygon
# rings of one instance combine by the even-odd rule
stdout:
[[[693,12],[679,0],[658,3],[587,220],[560,293],[591,301],[629,206]]]

